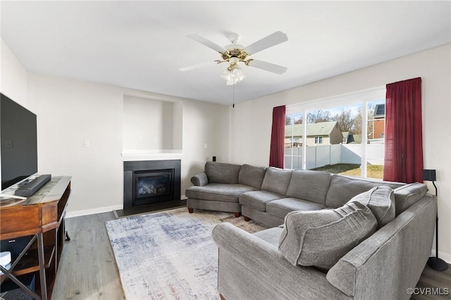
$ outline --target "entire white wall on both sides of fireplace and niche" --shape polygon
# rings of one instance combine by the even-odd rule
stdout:
[[[73,177],[68,213],[121,208],[124,90],[32,73],[27,82],[27,103],[38,115],[39,173]],[[228,139],[228,108],[177,100],[183,101],[184,194],[190,177],[203,170],[206,159],[228,157],[227,142],[222,140]],[[84,147],[84,141],[89,141],[89,147]]]

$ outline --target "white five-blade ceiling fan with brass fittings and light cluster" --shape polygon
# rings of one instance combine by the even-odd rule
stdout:
[[[245,47],[240,44],[237,44],[240,39],[240,35],[233,33],[228,36],[230,44],[224,47],[211,42],[209,39],[202,37],[202,35],[198,35],[197,33],[192,33],[187,35],[190,39],[194,39],[194,41],[203,44],[214,51],[217,51],[221,55],[221,59],[216,60],[216,63],[228,63],[228,68],[221,75],[224,79],[227,80],[227,85],[235,85],[235,83],[240,82],[244,79],[244,74],[242,73],[240,62],[245,65],[249,65],[254,68],[259,68],[261,70],[266,70],[276,74],[283,74],[287,70],[287,68],[276,65],[273,63],[267,63],[266,61],[259,61],[257,59],[249,58],[249,56],[256,54],[257,52],[267,49],[271,46],[276,46],[277,44],[288,41],[287,35],[285,33],[277,31],[272,35],[268,35],[263,39],[260,39],[253,44]],[[190,65],[189,67],[180,68],[180,71],[189,71],[197,68],[202,68],[204,66],[210,65],[211,62],[206,63],[197,63],[195,65]]]

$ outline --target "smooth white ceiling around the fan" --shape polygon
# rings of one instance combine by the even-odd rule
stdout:
[[[252,56],[288,71],[243,66],[235,103],[451,42],[450,1],[1,1],[0,11],[1,37],[29,72],[226,105],[227,65],[187,34],[221,46],[231,32],[244,46],[288,35]]]

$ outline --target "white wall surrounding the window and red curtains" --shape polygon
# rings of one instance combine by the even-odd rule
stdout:
[[[373,65],[230,108],[230,162],[268,165],[274,106],[297,104],[421,77],[424,168],[436,169],[439,191],[439,254],[451,263],[451,47]],[[259,151],[254,151],[259,149]],[[430,192],[433,186],[428,183]]]

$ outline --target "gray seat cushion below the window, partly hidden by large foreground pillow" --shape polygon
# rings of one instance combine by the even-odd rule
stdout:
[[[266,204],[266,212],[278,218],[285,218],[285,215],[291,211],[316,211],[326,206],[313,201],[307,201],[297,198],[283,198],[271,201]]]

